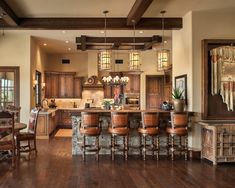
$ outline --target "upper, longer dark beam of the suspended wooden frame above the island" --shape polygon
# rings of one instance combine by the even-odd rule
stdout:
[[[76,43],[82,43],[82,37],[76,37]],[[136,43],[162,42],[162,37],[154,35],[152,37],[135,37]],[[104,37],[87,37],[86,43],[105,43]],[[133,43],[133,37],[106,37],[106,43]]]

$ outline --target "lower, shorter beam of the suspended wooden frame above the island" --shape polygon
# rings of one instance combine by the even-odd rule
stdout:
[[[77,45],[78,50],[82,50],[81,45]],[[114,45],[92,45],[87,44],[86,45],[87,50],[104,50],[104,49],[117,49]],[[131,50],[134,49],[134,45],[120,45],[118,47],[118,50]],[[144,45],[135,45],[136,50],[144,50]]]

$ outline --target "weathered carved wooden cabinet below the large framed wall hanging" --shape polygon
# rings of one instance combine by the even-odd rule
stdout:
[[[235,124],[202,123],[202,158],[235,162]]]

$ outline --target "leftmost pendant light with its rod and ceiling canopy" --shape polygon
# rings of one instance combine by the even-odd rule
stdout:
[[[105,16],[105,20],[104,20],[104,44],[105,44],[105,49],[104,50],[101,50],[99,52],[99,55],[98,55],[98,62],[99,62],[99,70],[102,71],[102,70],[111,70],[111,64],[112,64],[112,60],[111,60],[111,51],[107,49],[107,44],[106,44],[106,26],[107,26],[107,23],[106,23],[106,15],[109,11],[105,10],[103,11],[104,13],[104,16]]]

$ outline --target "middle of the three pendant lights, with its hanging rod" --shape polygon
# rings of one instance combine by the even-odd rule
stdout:
[[[129,69],[132,71],[140,70],[140,52],[135,50],[135,20],[133,23],[133,43],[134,48],[129,53]]]

